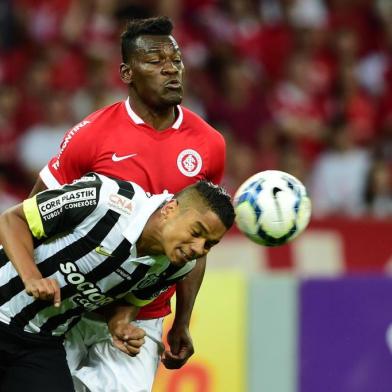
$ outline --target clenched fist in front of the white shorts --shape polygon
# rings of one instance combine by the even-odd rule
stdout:
[[[109,322],[113,345],[123,353],[135,357],[144,344],[145,331],[129,322]]]

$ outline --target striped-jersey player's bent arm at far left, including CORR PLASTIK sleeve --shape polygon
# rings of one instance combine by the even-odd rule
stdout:
[[[28,294],[60,304],[54,279],[43,278],[34,261],[33,238],[50,238],[76,227],[97,207],[102,185],[98,176],[26,199],[0,216],[0,241]],[[73,200],[74,208],[67,208]]]

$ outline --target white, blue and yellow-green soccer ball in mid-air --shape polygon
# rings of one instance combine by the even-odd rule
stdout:
[[[234,196],[236,224],[252,241],[283,245],[309,223],[311,202],[304,185],[291,174],[266,170],[248,178]]]

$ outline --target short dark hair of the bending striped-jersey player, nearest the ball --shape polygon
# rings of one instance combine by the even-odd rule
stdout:
[[[179,199],[181,204],[182,198],[186,198],[188,194],[192,195],[194,192],[198,194],[207,208],[218,215],[226,229],[230,229],[234,223],[235,213],[231,196],[226,189],[210,181],[202,180],[178,192],[175,197]]]

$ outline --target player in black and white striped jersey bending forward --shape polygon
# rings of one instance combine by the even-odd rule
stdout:
[[[0,216],[0,390],[73,391],[64,333],[115,300],[139,307],[183,278],[234,220],[206,181],[174,197],[90,173]],[[129,320],[127,320],[129,321]],[[133,350],[144,343],[140,329]]]

